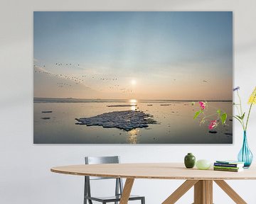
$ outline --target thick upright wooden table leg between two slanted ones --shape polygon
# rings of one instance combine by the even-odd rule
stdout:
[[[213,181],[200,180],[195,184],[194,204],[213,204]]]

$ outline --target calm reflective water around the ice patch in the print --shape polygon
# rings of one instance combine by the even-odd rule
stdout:
[[[227,124],[224,127],[219,125],[215,129],[218,133],[215,134],[208,132],[208,124],[199,125],[199,120],[193,120],[193,115],[199,107],[197,103],[191,106],[191,102],[187,101],[137,101],[137,110],[154,115],[154,119],[160,124],[151,124],[149,128],[137,128],[129,132],[117,128],[75,125],[75,118],[87,118],[111,111],[134,110],[135,106],[107,107],[131,104],[131,101],[36,99],[33,104],[35,144],[231,144],[233,142],[233,125],[230,121],[232,102],[208,102],[208,114],[220,108],[229,115]],[[149,104],[152,106],[148,106]],[[163,104],[169,106],[161,106]],[[42,113],[42,111],[53,111],[53,113]]]

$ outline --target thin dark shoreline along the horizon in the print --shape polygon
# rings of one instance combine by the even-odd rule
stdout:
[[[173,99],[140,99],[138,103],[169,103],[169,102],[233,102],[233,100],[173,100]],[[33,103],[129,103],[129,99],[101,99],[101,98],[41,98],[34,97]]]

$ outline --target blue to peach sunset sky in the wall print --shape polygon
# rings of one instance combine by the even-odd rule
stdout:
[[[232,100],[232,12],[34,12],[34,97]]]

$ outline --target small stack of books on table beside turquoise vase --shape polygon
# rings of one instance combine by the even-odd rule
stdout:
[[[244,162],[238,161],[216,161],[213,164],[214,171],[243,171]]]

